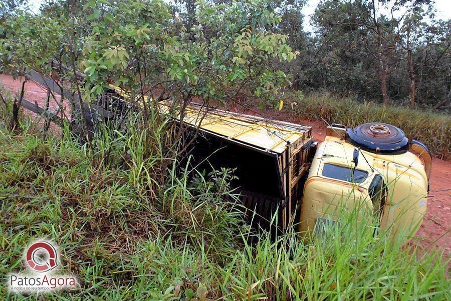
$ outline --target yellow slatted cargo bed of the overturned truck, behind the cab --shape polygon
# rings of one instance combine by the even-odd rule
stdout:
[[[302,194],[300,179],[313,146],[311,127],[198,104],[189,105],[183,121],[188,124],[186,141],[194,138],[186,151],[193,166],[236,168],[232,186],[253,225],[268,229],[277,212],[274,223],[284,229]]]

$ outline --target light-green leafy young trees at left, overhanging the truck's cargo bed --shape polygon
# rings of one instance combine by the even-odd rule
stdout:
[[[115,83],[141,101],[146,116],[154,103],[145,96],[170,98],[181,104],[182,119],[193,99],[217,105],[259,97],[273,103],[289,83],[271,61],[297,53],[287,35],[270,30],[280,16],[265,1],[197,1],[197,23],[189,32],[174,11],[162,0],[90,0],[83,6],[52,2],[38,15],[23,12],[1,41],[3,70],[42,70],[88,103]],[[71,108],[88,136],[81,100],[71,101]],[[183,129],[182,122],[178,136]]]

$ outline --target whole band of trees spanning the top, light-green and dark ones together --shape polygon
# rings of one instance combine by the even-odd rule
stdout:
[[[43,69],[62,85],[77,83],[72,89],[88,102],[116,83],[141,99],[274,104],[293,82],[384,103],[449,106],[449,20],[437,20],[429,0],[323,0],[313,33],[302,27],[303,5],[49,1],[38,15],[5,16],[0,68]],[[62,67],[72,65],[88,76]]]

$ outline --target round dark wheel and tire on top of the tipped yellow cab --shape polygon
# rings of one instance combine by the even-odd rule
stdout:
[[[404,132],[391,124],[369,122],[348,128],[346,140],[364,150],[381,154],[401,154],[408,151]]]

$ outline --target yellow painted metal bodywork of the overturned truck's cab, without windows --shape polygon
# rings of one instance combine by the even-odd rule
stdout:
[[[361,214],[371,214],[373,205],[368,189],[374,176],[380,174],[388,186],[380,228],[387,230],[391,227],[390,235],[399,233],[407,242],[426,212],[427,175],[421,159],[412,152],[383,155],[362,150],[357,169],[368,172],[362,183],[322,175],[325,163],[353,168],[353,150],[353,145],[339,137],[326,136],[325,141],[318,145],[304,186],[300,230],[311,235],[317,218],[339,220],[343,209],[359,207],[358,219],[362,218]]]

